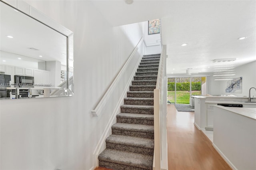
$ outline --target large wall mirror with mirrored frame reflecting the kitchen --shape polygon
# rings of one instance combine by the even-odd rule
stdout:
[[[0,1],[0,99],[74,95],[73,33],[16,3]]]

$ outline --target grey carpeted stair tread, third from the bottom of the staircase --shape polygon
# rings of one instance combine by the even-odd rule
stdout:
[[[112,129],[127,130],[127,131],[133,131],[133,132],[154,133],[154,126],[151,126],[151,125],[115,123],[114,125],[112,125]]]

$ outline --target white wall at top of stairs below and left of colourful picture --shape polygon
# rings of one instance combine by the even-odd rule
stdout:
[[[161,53],[160,34],[148,35],[148,21],[142,22],[144,44],[146,46],[144,54]]]

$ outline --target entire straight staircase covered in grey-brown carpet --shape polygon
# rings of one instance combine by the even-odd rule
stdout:
[[[114,170],[152,170],[154,155],[154,89],[160,54],[144,55],[116,115],[99,166]]]

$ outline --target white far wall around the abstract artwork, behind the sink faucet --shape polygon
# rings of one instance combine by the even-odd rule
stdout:
[[[250,87],[256,88],[256,61],[236,67],[236,77],[242,77],[242,93],[226,93],[227,81],[214,81],[214,77],[210,76],[208,83],[209,94],[211,95],[236,95],[248,96]],[[251,96],[256,96],[256,91],[251,90]]]

